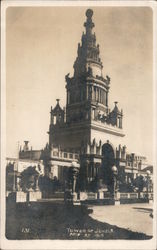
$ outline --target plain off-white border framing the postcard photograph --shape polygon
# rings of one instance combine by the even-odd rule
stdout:
[[[154,170],[156,166],[156,68],[157,68],[157,2],[155,1],[3,1],[1,4],[1,249],[157,249],[156,223],[153,223],[152,240],[7,240],[5,238],[5,156],[6,156],[6,87],[5,87],[5,18],[7,7],[13,6],[148,6],[153,11],[154,42]],[[156,170],[154,173],[155,191]],[[155,192],[156,194],[156,192]],[[154,195],[154,219],[156,222],[156,195]]]

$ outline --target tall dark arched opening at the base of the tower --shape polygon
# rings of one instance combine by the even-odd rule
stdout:
[[[115,154],[113,147],[109,143],[102,146],[102,179],[110,192],[113,191],[113,172],[112,167],[115,164]]]

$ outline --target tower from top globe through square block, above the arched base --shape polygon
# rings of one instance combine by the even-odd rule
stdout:
[[[109,109],[108,96],[111,79],[103,76],[99,44],[93,32],[93,11],[86,11],[85,33],[78,44],[74,74],[67,74],[66,108],[63,110],[57,100],[51,108],[49,143],[60,145],[77,152],[89,151],[93,145],[111,141],[116,145],[124,134],[122,132],[123,113],[117,102]],[[57,119],[57,120],[56,120]],[[56,122],[54,122],[56,121]],[[82,148],[83,145],[83,148]]]

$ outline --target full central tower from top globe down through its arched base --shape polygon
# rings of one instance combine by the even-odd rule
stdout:
[[[54,109],[51,107],[49,148],[55,145],[79,154],[80,189],[95,189],[102,183],[112,192],[114,165],[121,167],[121,147],[118,148],[124,137],[123,112],[118,102],[113,110],[109,108],[111,79],[103,75],[92,17],[93,11],[88,9],[73,76],[65,76],[66,107],[62,109],[59,100]]]

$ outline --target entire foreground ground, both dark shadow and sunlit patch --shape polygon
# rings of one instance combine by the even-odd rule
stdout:
[[[152,238],[149,204],[72,206],[63,203],[7,202],[8,239]]]

